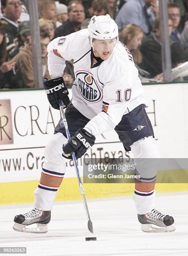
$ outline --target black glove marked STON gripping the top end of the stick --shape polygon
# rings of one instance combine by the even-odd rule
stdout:
[[[48,101],[53,108],[59,110],[58,100],[62,100],[64,108],[69,105],[69,92],[64,85],[63,77],[53,78],[50,80],[44,79],[43,87],[47,94]]]

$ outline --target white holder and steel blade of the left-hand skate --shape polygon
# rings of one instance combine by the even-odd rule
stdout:
[[[48,225],[47,224],[40,224],[36,223],[36,228],[29,228],[30,225],[23,225],[14,223],[13,230],[18,232],[25,232],[25,233],[34,233],[34,234],[44,234],[48,232]]]

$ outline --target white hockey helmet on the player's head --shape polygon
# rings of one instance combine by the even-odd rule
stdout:
[[[89,22],[88,31],[91,44],[93,38],[106,40],[118,37],[117,24],[109,14],[100,16],[94,15]]]

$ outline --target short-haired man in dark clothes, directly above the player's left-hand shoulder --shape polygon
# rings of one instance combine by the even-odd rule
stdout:
[[[85,19],[84,5],[79,0],[73,0],[68,5],[69,19],[55,31],[55,38],[66,36],[80,30],[80,25]]]

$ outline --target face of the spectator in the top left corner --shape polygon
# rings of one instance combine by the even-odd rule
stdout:
[[[22,12],[22,2],[20,0],[7,0],[6,6],[2,6],[2,10],[5,17],[17,21]]]

